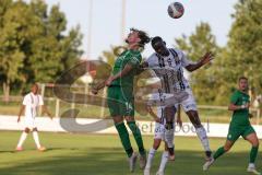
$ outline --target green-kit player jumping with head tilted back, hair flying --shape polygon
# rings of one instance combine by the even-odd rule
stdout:
[[[108,86],[107,104],[123,149],[129,158],[130,172],[134,171],[138,154],[132,149],[123,119],[127,120],[128,127],[132,131],[138,144],[140,167],[144,168],[146,164],[142,136],[134,120],[133,79],[142,60],[140,50],[148,42],[150,37],[145,32],[131,28],[126,39],[128,49],[116,59],[111,77],[108,78],[104,85],[93,89],[93,93],[96,94],[99,89],[105,85]]]

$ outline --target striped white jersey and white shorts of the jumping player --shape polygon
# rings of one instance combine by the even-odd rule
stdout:
[[[160,79],[163,94],[172,94],[171,102],[166,100],[168,105],[181,104],[184,112],[196,110],[196,103],[187,79],[183,77],[183,68],[193,63],[187,59],[179,49],[168,48],[169,56],[163,57],[153,54],[147,58],[148,68],[154,70]],[[165,103],[164,103],[165,104]]]

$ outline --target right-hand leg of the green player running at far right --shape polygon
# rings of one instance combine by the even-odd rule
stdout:
[[[257,133],[255,132],[250,133],[249,136],[246,137],[246,140],[249,141],[252,145],[250,151],[249,166],[247,168],[247,172],[261,175],[261,173],[255,170],[255,164],[254,164],[258,155],[258,150],[259,150],[259,139],[257,137]]]

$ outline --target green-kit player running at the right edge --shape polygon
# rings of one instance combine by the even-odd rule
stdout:
[[[248,95],[248,79],[245,77],[239,78],[238,88],[239,89],[231,95],[230,105],[228,106],[228,109],[233,110],[233,117],[226,143],[214,153],[211,161],[207,161],[203,165],[203,170],[206,171],[216,159],[229,151],[237,139],[241,136],[245,140],[252,144],[247,172],[261,175],[254,166],[255,158],[259,151],[259,139],[249,121],[250,97]]]

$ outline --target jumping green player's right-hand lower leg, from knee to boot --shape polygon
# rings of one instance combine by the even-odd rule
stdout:
[[[130,130],[133,133],[134,140],[135,140],[135,142],[138,144],[138,148],[139,148],[139,152],[140,152],[140,168],[144,170],[144,167],[146,165],[146,153],[145,153],[145,149],[144,149],[141,131],[140,131],[139,127],[136,126],[133,116],[126,116],[124,118],[127,120],[127,124],[128,124]]]

